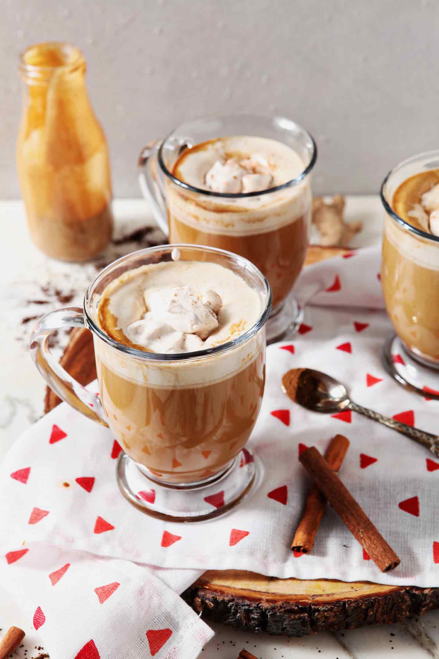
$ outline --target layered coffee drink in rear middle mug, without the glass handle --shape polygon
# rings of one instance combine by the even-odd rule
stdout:
[[[296,151],[269,138],[230,136],[186,148],[172,176],[204,192],[167,181],[170,241],[244,256],[269,280],[276,310],[305,261],[311,223],[309,177],[270,190],[304,170]]]

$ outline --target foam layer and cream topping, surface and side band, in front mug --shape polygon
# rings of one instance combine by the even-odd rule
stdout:
[[[169,320],[169,314],[174,314],[172,308],[169,310],[168,302],[172,302],[175,293],[178,293],[174,299],[179,306],[175,316],[179,318]],[[196,320],[192,315],[192,304],[197,310],[194,314]],[[188,314],[185,305],[189,309]],[[263,301],[259,293],[232,270],[211,262],[176,261],[142,266],[115,279],[103,292],[98,319],[101,329],[123,345],[145,351],[151,351],[153,345],[157,351],[163,344],[170,348],[168,352],[180,353],[176,346],[184,347],[188,341],[187,349],[182,350],[184,353],[216,347],[236,339],[253,327],[262,312]],[[136,328],[142,322],[147,325],[151,320],[160,325],[152,342],[147,345],[150,338],[147,328],[145,345],[136,342],[142,332],[136,333],[133,326]],[[163,327],[169,326],[169,322],[174,325],[171,326],[172,331],[165,329],[163,333]],[[184,329],[189,331],[182,331]],[[167,344],[169,333],[174,334],[170,346]],[[188,335],[190,339],[182,335]],[[97,357],[129,380],[178,387],[217,382],[239,372],[263,349],[263,335],[259,333],[243,345],[220,355],[181,362],[169,362],[165,358],[160,362],[147,362],[120,355],[103,341],[97,341],[97,344]]]

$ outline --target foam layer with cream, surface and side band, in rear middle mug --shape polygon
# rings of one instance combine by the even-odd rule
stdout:
[[[305,164],[277,140],[230,136],[197,144],[183,152],[173,175],[211,192],[263,191],[295,179]],[[207,197],[168,185],[169,212],[179,221],[209,233],[265,233],[289,224],[309,210],[309,179],[249,198]]]

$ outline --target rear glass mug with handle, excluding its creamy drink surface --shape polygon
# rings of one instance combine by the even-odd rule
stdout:
[[[174,176],[184,150],[230,136],[286,144],[300,156],[303,171],[269,190],[234,194],[196,188]],[[289,294],[305,261],[316,159],[313,138],[294,121],[246,114],[190,121],[140,154],[140,188],[171,243],[203,244],[240,254],[267,277],[273,299],[267,324],[270,341],[299,322],[299,307]]]

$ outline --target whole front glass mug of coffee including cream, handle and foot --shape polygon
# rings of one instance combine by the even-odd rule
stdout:
[[[165,519],[198,521],[238,503],[255,480],[244,446],[261,407],[270,308],[267,280],[239,256],[148,248],[105,268],[84,312],[43,316],[32,355],[61,398],[111,429],[125,451],[118,484],[128,500]],[[51,331],[72,325],[93,333],[98,397],[47,349]],[[212,510],[205,497],[219,480],[227,494]],[[139,496],[148,484],[152,502]]]

